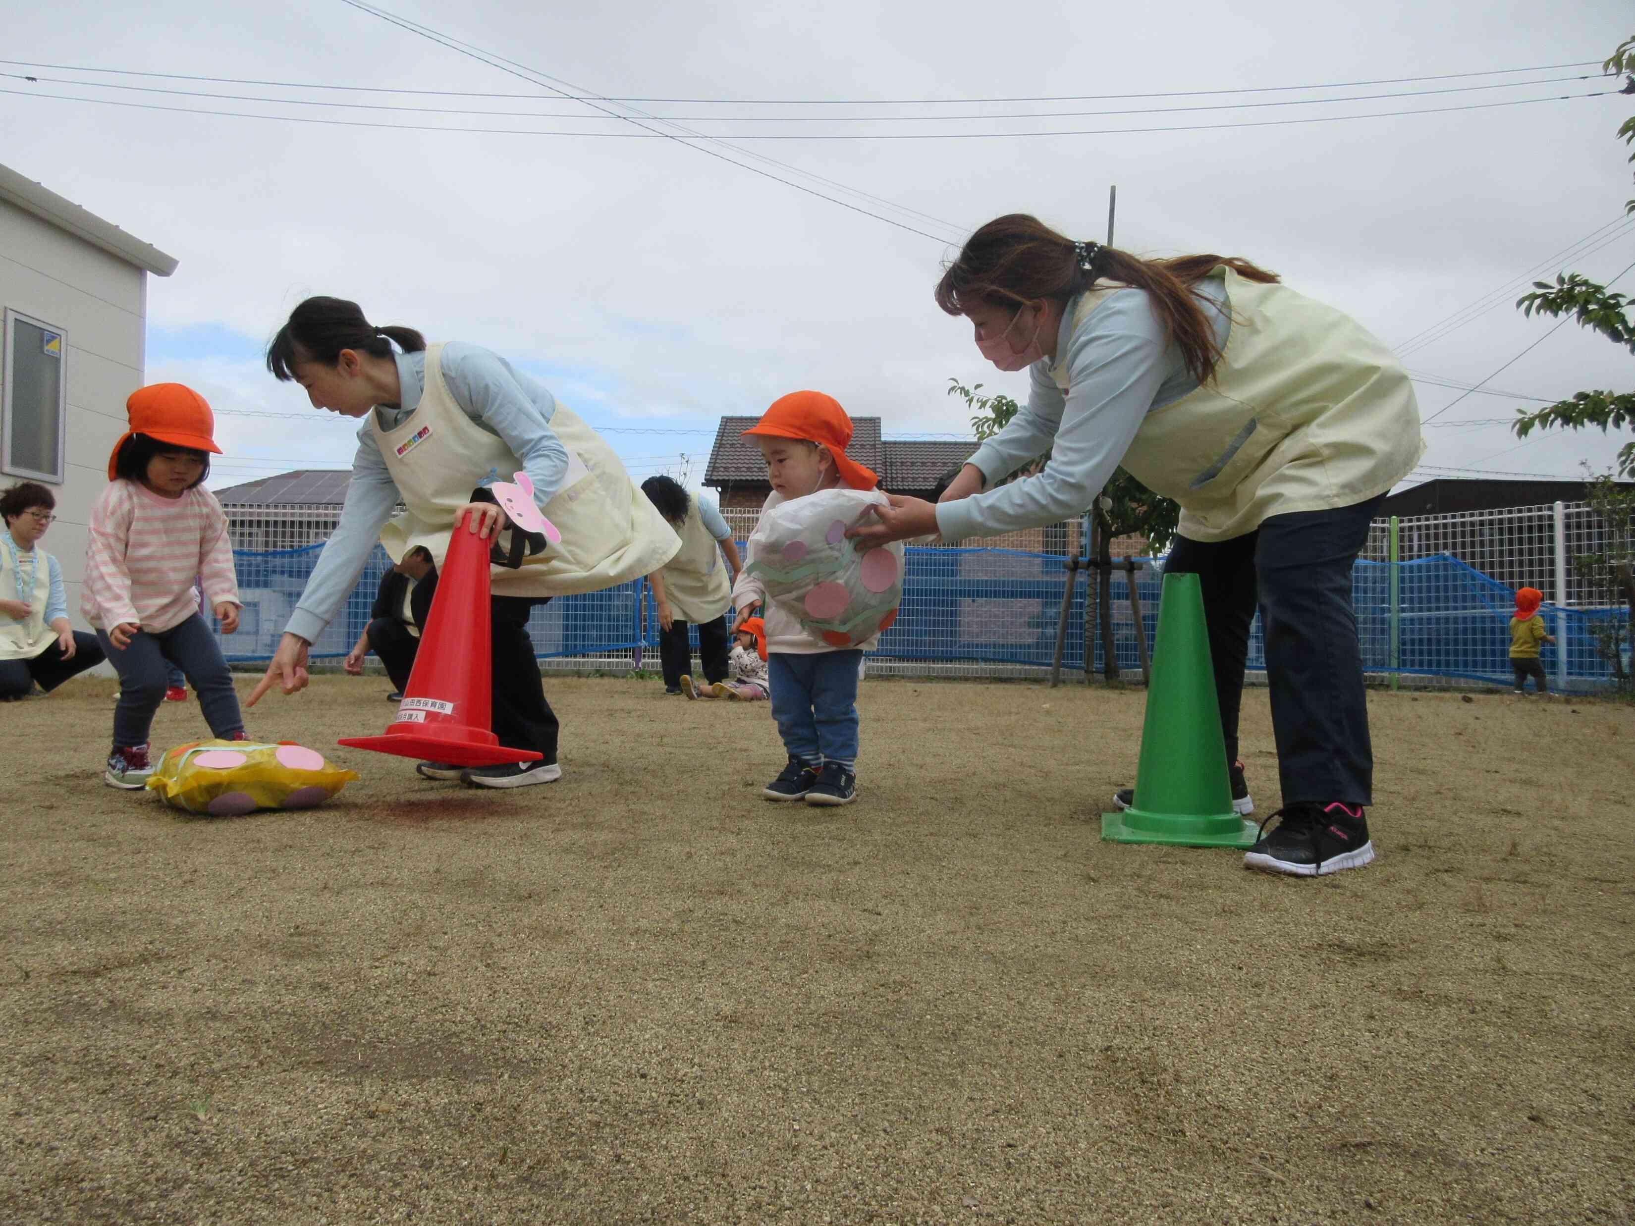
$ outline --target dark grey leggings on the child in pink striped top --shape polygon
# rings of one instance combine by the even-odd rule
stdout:
[[[131,646],[119,651],[106,631],[96,631],[96,641],[108,654],[108,662],[119,673],[119,703],[113,709],[113,744],[146,745],[154,724],[154,711],[165,701],[170,683],[170,667],[180,665],[199,696],[204,723],[219,739],[244,731],[239,713],[239,695],[232,688],[232,673],[221,656],[216,636],[204,618],[195,613],[173,629],[149,634],[146,629],[131,636]]]

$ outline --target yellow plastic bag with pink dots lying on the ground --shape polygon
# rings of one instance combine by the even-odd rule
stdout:
[[[311,809],[358,778],[293,741],[203,741],[159,760],[147,786],[172,809],[239,817],[255,809]]]

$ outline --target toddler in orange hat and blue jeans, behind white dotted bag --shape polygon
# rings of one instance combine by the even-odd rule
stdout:
[[[760,445],[772,494],[762,507],[804,499],[840,485],[871,490],[878,477],[845,454],[852,418],[822,392],[791,392],[744,432]],[[768,801],[850,804],[857,799],[857,678],[862,646],[835,647],[801,626],[780,602],[768,602],[760,579],[746,567],[732,587],[737,626],[762,610],[772,718],[790,760],[762,790]]]

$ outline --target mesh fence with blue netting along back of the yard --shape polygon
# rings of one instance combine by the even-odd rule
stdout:
[[[271,656],[337,513],[332,505],[229,508],[245,602],[239,631],[222,638],[231,660]],[[726,510],[724,518],[742,548],[757,513]],[[1073,593],[1061,667],[1066,673],[1104,672],[1095,620],[1100,577],[1064,566],[1079,541],[1081,525],[1068,521],[1035,530],[1025,541],[1033,546],[1028,549],[911,546],[903,608],[870,656],[870,673],[1048,677],[1068,584]],[[1514,588],[1525,584],[1545,593],[1545,623],[1558,641],[1545,647],[1543,664],[1557,687],[1609,687],[1617,670],[1597,649],[1594,629],[1627,616],[1627,610],[1597,605],[1571,566],[1575,554],[1599,548],[1601,526],[1584,503],[1377,520],[1352,580],[1365,669],[1421,683],[1509,685],[1507,621]],[[1144,569],[1133,574],[1113,570],[1107,602],[1113,659],[1123,675],[1136,677],[1140,641],[1153,649],[1162,559],[1140,564]],[[352,649],[387,566],[376,546],[347,605],[312,646],[314,657],[334,660]],[[1140,621],[1131,610],[1131,582]],[[644,580],[556,598],[535,610],[530,633],[546,669],[626,672],[657,665],[657,611]],[[1251,680],[1262,667],[1256,620]]]

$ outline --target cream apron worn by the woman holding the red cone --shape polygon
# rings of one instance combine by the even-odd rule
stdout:
[[[425,351],[425,392],[402,423],[381,430],[379,414],[370,414],[374,441],[407,507],[381,528],[381,544],[394,562],[423,544],[443,566],[455,512],[471,502],[473,487],[490,474],[510,481],[522,471],[505,440],[473,422],[450,396],[441,351],[441,345]],[[680,543],[613,448],[561,404],[551,415],[551,433],[567,448],[567,481],[541,510],[562,541],[528,557],[522,569],[492,567],[494,595],[597,592],[664,566]]]

